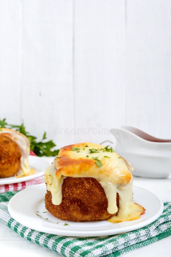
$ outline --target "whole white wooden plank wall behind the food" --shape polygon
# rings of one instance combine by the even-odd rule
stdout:
[[[58,146],[125,124],[171,138],[170,12],[170,0],[1,0],[0,117]]]

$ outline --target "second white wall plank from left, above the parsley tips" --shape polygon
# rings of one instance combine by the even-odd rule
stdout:
[[[72,135],[54,134],[73,127],[72,1],[22,3],[22,118],[31,133],[57,144]],[[57,132],[57,130],[55,130]]]

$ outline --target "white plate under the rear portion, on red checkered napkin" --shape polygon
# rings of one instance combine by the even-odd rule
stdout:
[[[44,170],[49,167],[49,162],[42,157],[29,155],[29,167],[34,168],[36,173],[30,176],[24,176],[21,178],[9,177],[0,178],[0,185],[19,183],[33,178],[38,178],[44,174]]]

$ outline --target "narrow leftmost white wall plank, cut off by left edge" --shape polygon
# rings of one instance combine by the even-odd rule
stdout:
[[[0,1],[0,117],[21,121],[21,3]]]

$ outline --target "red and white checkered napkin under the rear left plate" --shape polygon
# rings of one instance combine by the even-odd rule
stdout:
[[[36,154],[33,151],[30,151],[30,155],[36,156]],[[43,183],[43,176],[28,180],[28,181],[19,182],[19,183],[0,185],[0,193],[5,193],[7,191],[22,190],[31,185],[40,184],[40,183]]]

